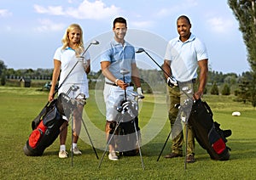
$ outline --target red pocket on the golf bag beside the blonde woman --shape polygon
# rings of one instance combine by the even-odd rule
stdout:
[[[28,144],[32,149],[38,146],[40,139],[44,136],[44,132],[46,131],[47,127],[44,126],[43,121],[41,121],[38,127],[32,131],[31,135],[28,138]]]

